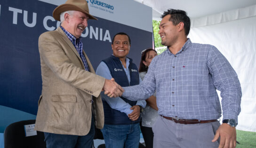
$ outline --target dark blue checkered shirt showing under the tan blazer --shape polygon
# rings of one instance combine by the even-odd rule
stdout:
[[[85,67],[85,70],[86,71],[89,71],[89,68],[88,68],[88,64],[87,64],[87,61],[83,55],[83,43],[81,42],[81,37],[79,38],[76,38],[74,37],[71,33],[69,33],[67,30],[65,30],[62,26],[60,26],[60,28],[64,31],[64,33],[66,34],[66,36],[69,38],[69,40],[72,42],[72,44],[75,46],[77,52],[79,53],[80,55],[80,58],[82,59],[83,61],[83,64],[84,64],[84,67]]]

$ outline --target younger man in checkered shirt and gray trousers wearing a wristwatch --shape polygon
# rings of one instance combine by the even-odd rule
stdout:
[[[123,97],[147,99],[156,90],[159,118],[154,148],[234,148],[241,87],[237,74],[216,47],[192,43],[190,19],[169,9],[159,26],[167,50],[152,59],[141,84],[125,87]],[[221,105],[216,92],[221,91]],[[107,93],[107,92],[105,92]]]

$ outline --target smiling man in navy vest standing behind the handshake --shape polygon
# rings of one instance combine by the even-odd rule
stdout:
[[[96,74],[106,79],[114,78],[122,87],[141,82],[138,68],[126,57],[130,51],[130,37],[123,32],[112,39],[113,54],[101,61]],[[102,133],[106,148],[138,148],[140,140],[140,111],[146,102],[130,101],[125,97],[110,98],[102,93],[104,128]]]

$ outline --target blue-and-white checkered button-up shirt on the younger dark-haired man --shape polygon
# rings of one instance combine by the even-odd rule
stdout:
[[[240,113],[240,82],[228,60],[216,47],[189,38],[175,55],[167,49],[156,56],[140,85],[124,89],[130,100],[146,99],[156,90],[160,115],[199,120],[221,117],[218,89],[223,119],[237,121]]]

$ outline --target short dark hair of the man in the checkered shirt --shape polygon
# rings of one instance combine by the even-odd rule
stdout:
[[[183,22],[184,23],[184,30],[185,35],[189,34],[190,30],[190,18],[188,17],[187,13],[183,10],[176,10],[176,9],[168,9],[164,12],[161,18],[164,18],[166,15],[171,15],[169,21],[171,21],[175,26]]]

